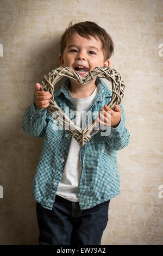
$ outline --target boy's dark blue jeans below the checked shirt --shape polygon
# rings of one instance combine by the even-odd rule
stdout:
[[[56,196],[53,209],[36,202],[40,245],[101,245],[110,200],[80,210],[79,202]]]

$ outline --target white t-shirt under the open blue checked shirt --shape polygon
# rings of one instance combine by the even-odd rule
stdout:
[[[92,105],[97,95],[97,90],[98,89],[96,87],[92,95],[85,98],[74,98],[70,90],[68,90],[68,96],[72,99],[76,107],[76,118],[74,119],[74,123],[76,123],[81,128],[86,118],[86,111]],[[84,128],[85,127],[83,127],[83,129]],[[72,136],[64,172],[62,174],[62,178],[57,190],[58,196],[64,197],[72,202],[79,202],[78,187],[80,175],[82,173],[82,166],[79,159],[80,149],[81,146]]]

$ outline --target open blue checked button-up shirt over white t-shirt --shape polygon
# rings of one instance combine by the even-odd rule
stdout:
[[[100,109],[110,102],[112,92],[101,78],[97,78],[95,83],[98,86],[98,93],[87,111],[98,115]],[[74,117],[71,117],[69,113],[76,111],[76,108],[68,96],[68,84],[70,84],[69,78],[62,84],[60,90],[54,90],[54,99],[65,114],[74,121]],[[78,196],[81,210],[92,208],[120,194],[117,150],[126,147],[130,137],[124,126],[124,110],[122,105],[120,107],[122,110],[120,124],[116,128],[105,126],[106,129],[110,129],[108,136],[104,130],[100,129],[80,150],[82,174]],[[89,122],[86,116],[85,127]],[[43,138],[40,160],[32,181],[32,192],[35,200],[49,210],[53,208],[72,137],[70,133],[61,128],[46,108],[39,109],[35,106],[33,96],[32,103],[24,113],[22,129],[31,136]]]

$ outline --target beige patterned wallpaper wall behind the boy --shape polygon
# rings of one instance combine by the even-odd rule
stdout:
[[[121,194],[111,199],[102,245],[163,244],[163,1],[1,0],[0,244],[38,245],[31,182],[42,139],[22,131],[35,83],[59,66],[71,20],[112,36],[111,67],[126,84],[130,144],[118,151]]]

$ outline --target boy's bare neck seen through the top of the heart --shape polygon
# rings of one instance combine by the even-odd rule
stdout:
[[[95,80],[92,80],[89,83],[83,85],[77,81],[71,80],[70,78],[70,86],[68,87],[68,89],[70,90],[72,96],[75,98],[89,97],[92,95],[97,87],[95,84]]]

